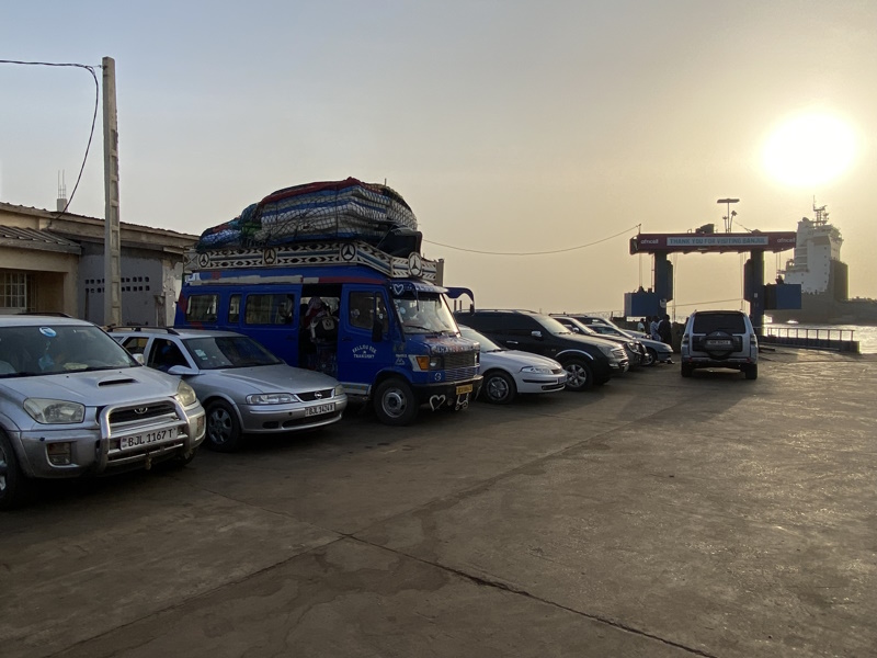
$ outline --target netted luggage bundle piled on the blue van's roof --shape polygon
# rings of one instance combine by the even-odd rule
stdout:
[[[362,240],[381,247],[400,235],[415,234],[417,227],[414,213],[398,192],[349,178],[269,194],[231,222],[205,230],[196,249],[257,249],[319,240]]]

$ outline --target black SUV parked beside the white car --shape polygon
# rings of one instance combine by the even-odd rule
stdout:
[[[531,310],[470,310],[454,314],[457,322],[480,331],[510,350],[542,354],[567,371],[567,388],[584,390],[626,372],[623,348],[602,338],[577,336],[555,318]]]

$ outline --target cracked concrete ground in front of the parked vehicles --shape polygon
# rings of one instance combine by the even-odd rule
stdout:
[[[0,515],[0,655],[877,654],[877,360],[355,408]]]

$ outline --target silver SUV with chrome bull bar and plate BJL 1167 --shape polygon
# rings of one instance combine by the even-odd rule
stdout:
[[[100,327],[0,316],[0,508],[31,478],[186,464],[204,429],[189,384],[143,367]]]

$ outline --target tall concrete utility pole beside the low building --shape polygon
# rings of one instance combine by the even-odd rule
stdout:
[[[103,324],[122,324],[122,243],[118,219],[118,117],[116,63],[104,57],[103,68]]]

